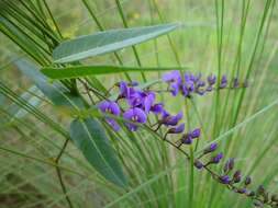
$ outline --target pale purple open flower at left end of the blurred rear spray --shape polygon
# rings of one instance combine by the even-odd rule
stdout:
[[[181,85],[180,72],[175,70],[163,76],[163,81],[167,82],[171,86],[171,94],[176,96],[178,94],[179,88]]]

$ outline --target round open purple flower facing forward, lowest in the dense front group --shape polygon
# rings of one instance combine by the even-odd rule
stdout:
[[[138,107],[127,109],[126,112],[123,113],[123,117],[125,119],[129,119],[135,123],[141,123],[141,124],[144,124],[147,120],[147,116],[145,112]],[[136,124],[131,124],[131,123],[126,123],[125,125],[132,131],[137,130],[137,127],[138,127]]]

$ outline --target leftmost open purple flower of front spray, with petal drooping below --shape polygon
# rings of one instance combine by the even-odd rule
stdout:
[[[98,107],[102,113],[113,114],[115,116],[121,114],[121,109],[115,102],[102,101],[99,103]],[[114,130],[120,130],[119,124],[113,118],[105,118],[105,120]]]

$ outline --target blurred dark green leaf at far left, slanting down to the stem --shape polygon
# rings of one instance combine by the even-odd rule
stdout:
[[[84,106],[84,102],[78,95],[70,93],[70,91],[59,82],[48,82],[47,78],[40,72],[38,67],[35,65],[23,59],[16,60],[15,65],[55,105]]]

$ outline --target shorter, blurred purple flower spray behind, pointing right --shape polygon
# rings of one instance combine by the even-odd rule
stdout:
[[[220,84],[216,86],[216,77],[214,74],[210,74],[207,79],[203,79],[201,73],[194,76],[188,72],[185,73],[182,78],[180,72],[177,70],[165,73],[163,76],[163,81],[168,83],[169,90],[174,96],[180,92],[186,97],[190,97],[192,93],[204,95],[205,93],[216,89],[221,90],[229,88],[229,85],[232,89],[247,86],[247,82],[244,81],[244,83],[241,84],[238,78],[232,79],[229,84],[225,74],[221,77]]]

